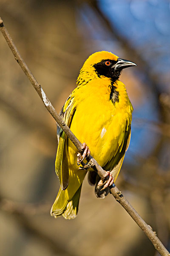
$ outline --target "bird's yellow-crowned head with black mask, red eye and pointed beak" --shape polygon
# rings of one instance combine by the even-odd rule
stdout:
[[[122,69],[131,66],[137,65],[131,61],[121,59],[111,52],[95,52],[88,57],[82,66],[78,82],[82,75],[87,80],[104,76],[116,81],[119,79]]]

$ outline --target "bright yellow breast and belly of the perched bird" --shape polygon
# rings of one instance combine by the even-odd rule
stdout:
[[[119,93],[119,102],[113,104],[110,100],[110,84],[108,78],[93,79],[77,87],[73,95],[78,104],[71,122],[71,131],[81,143],[85,142],[89,146],[91,155],[101,166],[116,154],[133,111],[125,85],[121,81],[114,84]],[[68,155],[70,166],[76,167],[77,149],[70,140]]]

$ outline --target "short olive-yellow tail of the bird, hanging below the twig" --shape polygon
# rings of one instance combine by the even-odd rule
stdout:
[[[63,216],[65,219],[73,219],[77,216],[79,208],[79,198],[81,193],[82,185],[79,187],[77,192],[74,194],[71,200],[67,200],[65,196],[66,190],[59,189],[57,198],[51,208],[51,216],[55,218]]]

